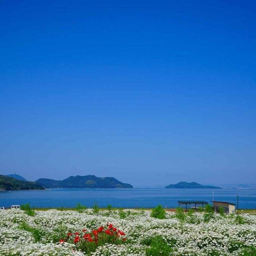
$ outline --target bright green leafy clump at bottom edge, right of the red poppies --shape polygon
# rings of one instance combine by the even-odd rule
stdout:
[[[165,242],[162,236],[147,237],[142,240],[141,244],[148,246],[145,249],[147,256],[167,256],[173,252],[173,249]]]

